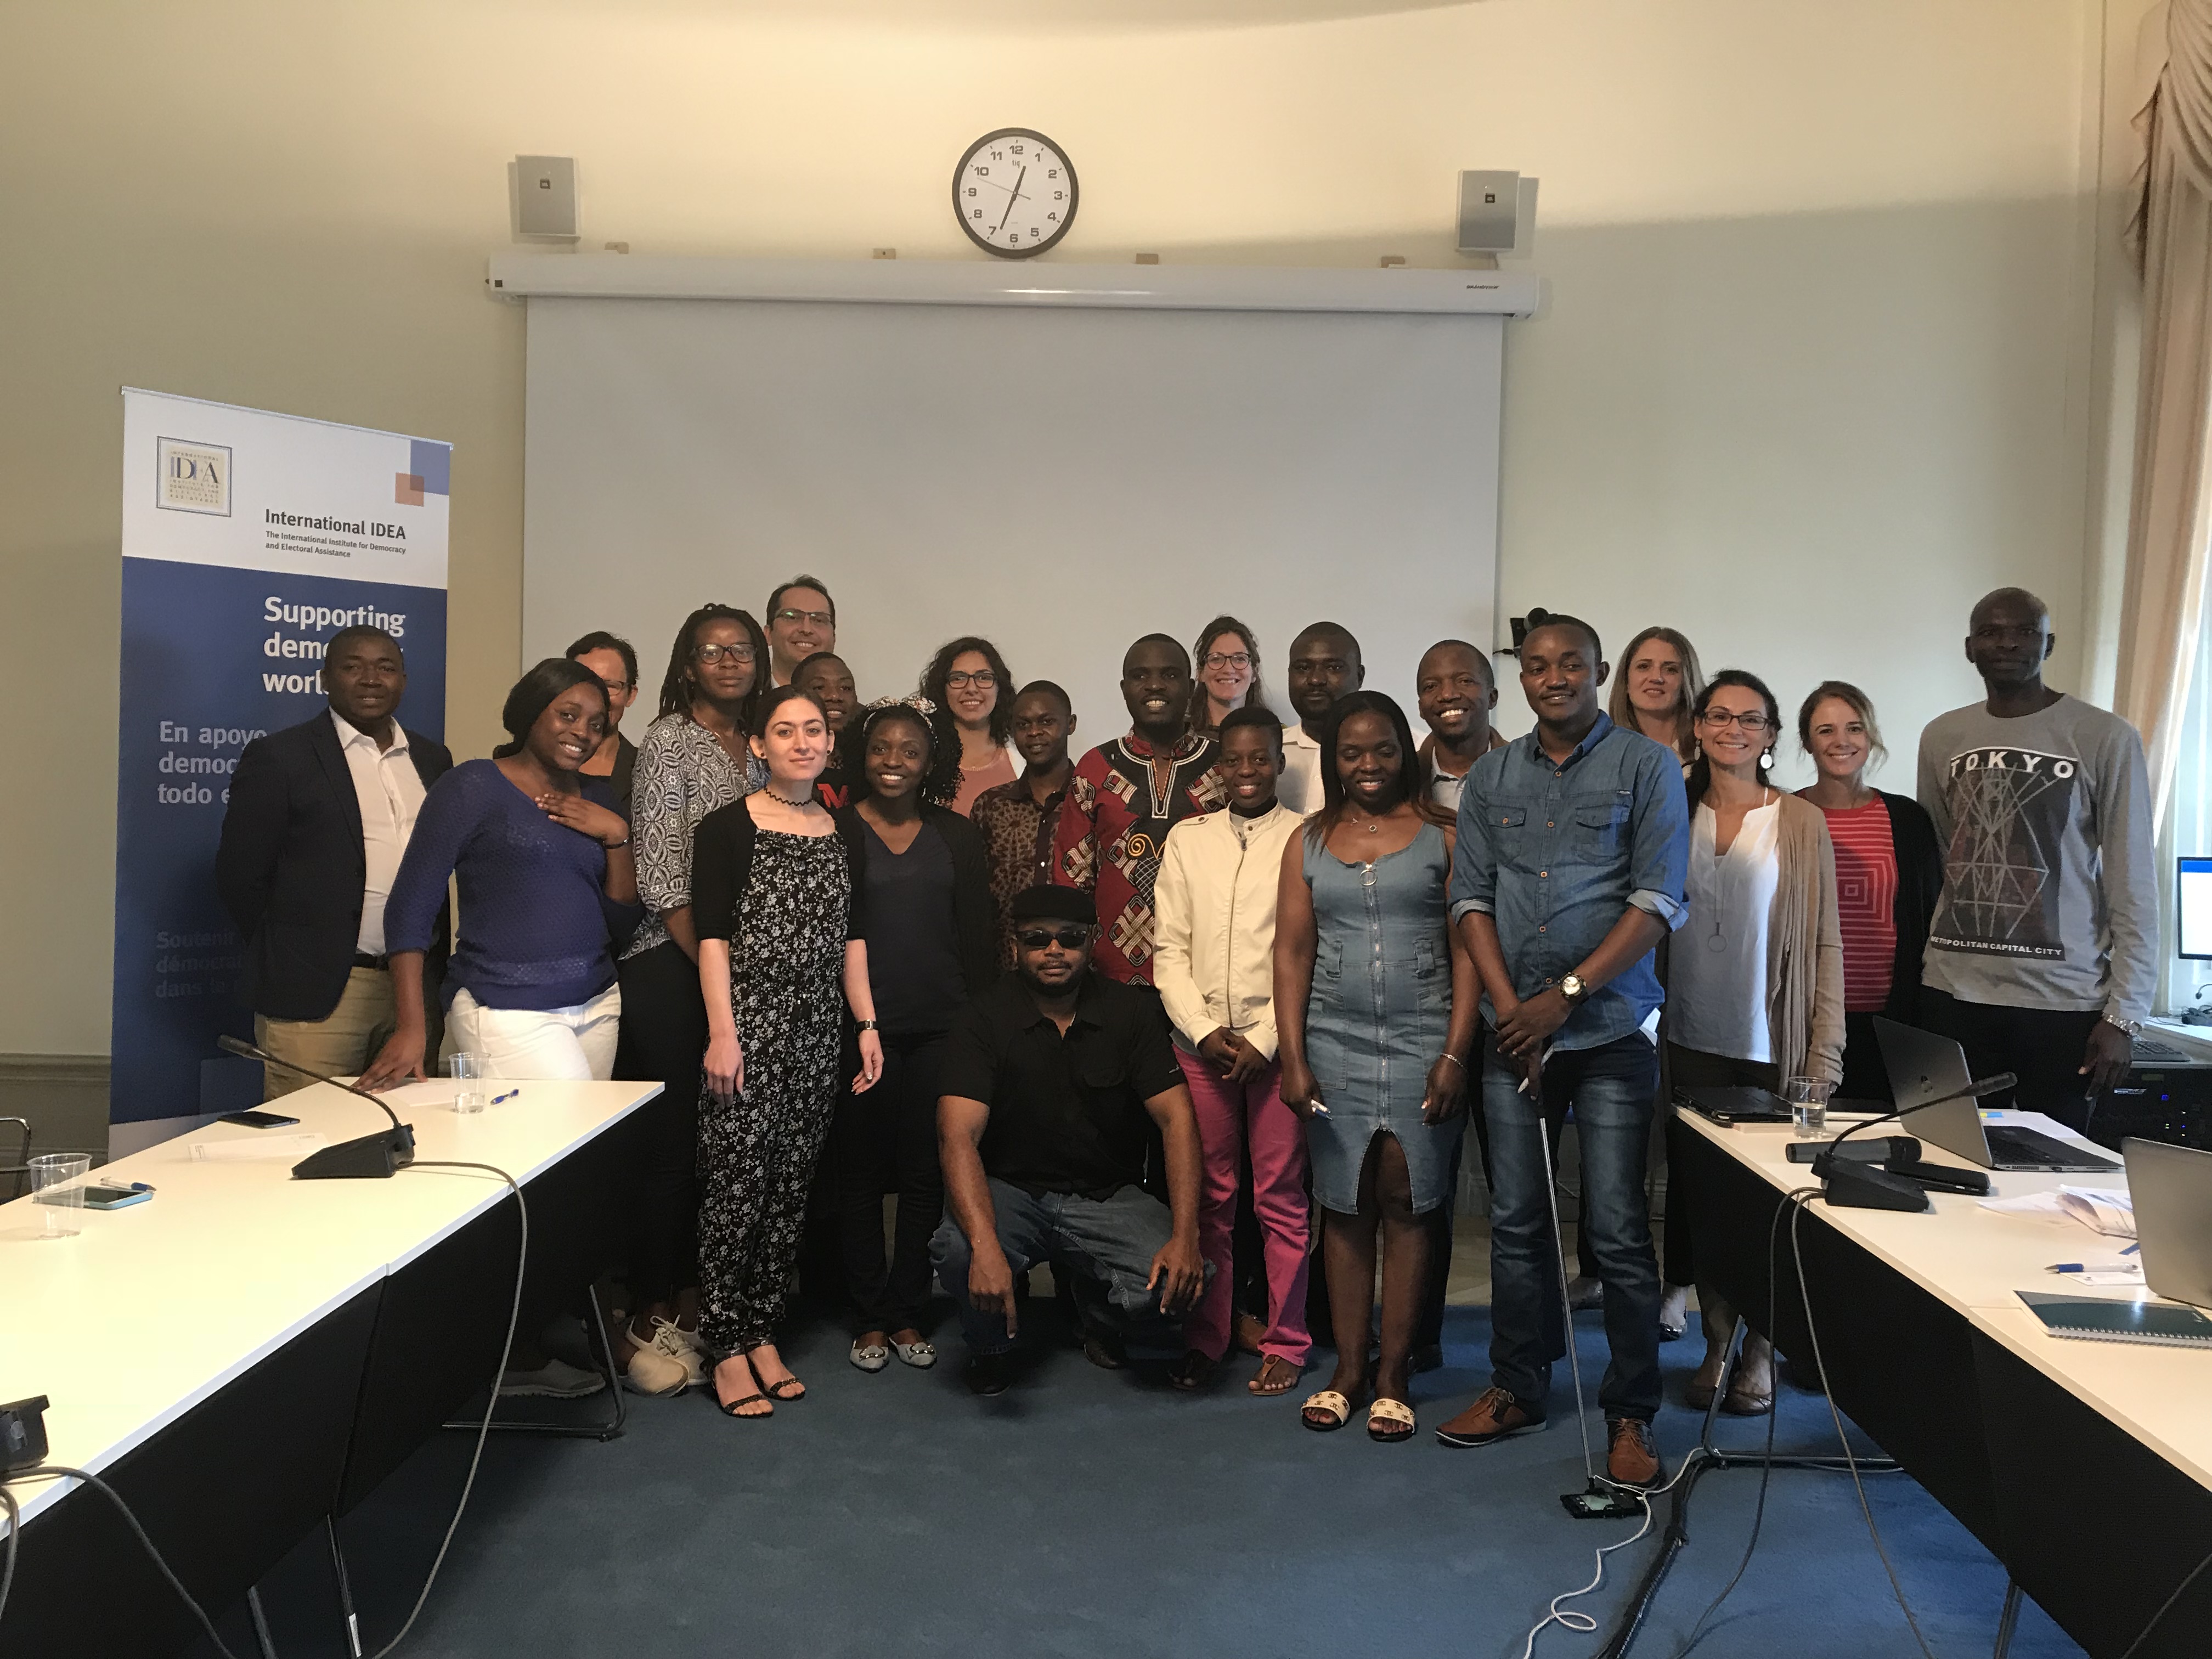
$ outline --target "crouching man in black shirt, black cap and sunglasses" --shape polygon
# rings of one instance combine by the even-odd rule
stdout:
[[[1015,971],[969,1002],[947,1044],[949,1214],[929,1252],[960,1307],[975,1394],[1006,1391],[1013,1281],[1040,1261],[1093,1303],[1086,1321],[1119,1321],[1168,1352],[1181,1352],[1175,1316],[1206,1287],[1190,1091],[1159,1000],[1091,971],[1095,929],[1079,887],[1015,894]],[[1139,1186],[1155,1124],[1168,1203]]]

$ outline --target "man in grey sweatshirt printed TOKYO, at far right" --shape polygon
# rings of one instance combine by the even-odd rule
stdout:
[[[2044,686],[2057,635],[2033,593],[1984,595],[1966,628],[1986,697],[1920,732],[1920,805],[1944,849],[1920,1022],[1973,1075],[2020,1075],[1986,1106],[2079,1130],[2128,1075],[2159,984],[2143,739]]]

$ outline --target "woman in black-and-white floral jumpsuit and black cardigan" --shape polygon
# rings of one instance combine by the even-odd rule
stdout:
[[[765,781],[699,823],[695,905],[708,1011],[699,1091],[699,1336],[714,1400],[765,1418],[805,1398],[776,1352],[807,1190],[838,1095],[845,1011],[852,1091],[883,1077],[863,938],[858,825],[814,799],[830,721],[796,686],[761,699],[750,739]]]

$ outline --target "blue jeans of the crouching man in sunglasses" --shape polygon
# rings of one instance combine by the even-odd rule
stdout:
[[[991,1179],[991,1214],[998,1223],[998,1248],[1020,1279],[1040,1263],[1053,1263],[1053,1276],[1066,1276],[1084,1323],[1108,1323],[1121,1329],[1130,1347],[1159,1354],[1181,1354],[1181,1321],[1159,1312],[1159,1292],[1146,1290],[1152,1256],[1175,1230],[1168,1206],[1144,1188],[1119,1188],[1110,1199],[1086,1199],[1079,1192],[1046,1192],[1029,1197],[1022,1188]],[[929,1241],[938,1279],[960,1310],[960,1334],[969,1354],[1004,1354],[1013,1347],[1006,1321],[969,1305],[969,1241],[947,1212]],[[1104,1301],[1102,1301],[1104,1294]]]

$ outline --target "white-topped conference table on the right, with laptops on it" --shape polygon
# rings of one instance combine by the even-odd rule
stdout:
[[[2119,1161],[2048,1117],[1984,1117]],[[1829,1128],[1851,1121],[1832,1117]],[[1911,1133],[1911,1124],[1867,1133]],[[1754,1321],[1778,1294],[1776,1336],[1809,1358],[1787,1217],[1772,1279],[1765,1267],[1781,1197],[1816,1186],[1809,1166],[1787,1159],[1794,1139],[1790,1126],[1728,1128],[1679,1113],[1670,1161],[1690,1181],[1699,1279],[1721,1281]],[[1920,1144],[1931,1164],[1973,1168]],[[1989,1177],[1991,1199],[2126,1188],[2124,1170]],[[2051,1272],[2059,1261],[2117,1263],[2128,1241],[2051,1212],[1989,1210],[1969,1194],[1931,1192],[1929,1203],[1927,1212],[1805,1206],[1798,1232],[1836,1402],[2090,1655],[2117,1655],[2212,1551],[2212,1349],[2051,1336],[2017,1292],[2148,1296]],[[2203,1650],[2208,1579],[2159,1624],[2141,1659]]]

